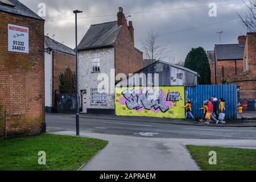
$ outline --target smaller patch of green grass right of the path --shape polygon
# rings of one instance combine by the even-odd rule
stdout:
[[[256,150],[207,146],[187,146],[187,148],[204,171],[256,170]],[[209,164],[210,151],[216,151],[217,165]]]

